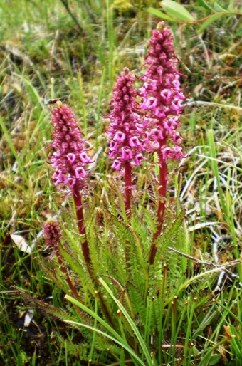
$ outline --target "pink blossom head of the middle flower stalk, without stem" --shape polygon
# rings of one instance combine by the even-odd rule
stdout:
[[[112,112],[106,116],[111,120],[107,137],[110,140],[109,157],[114,159],[112,168],[120,170],[122,165],[130,162],[132,165],[140,165],[145,150],[142,141],[144,124],[140,122],[137,109],[137,90],[132,83],[135,78],[128,68],[124,68],[117,83],[113,88],[113,96],[110,103]]]

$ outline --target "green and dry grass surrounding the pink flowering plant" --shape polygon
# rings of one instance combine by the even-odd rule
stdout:
[[[78,345],[84,345],[85,336],[90,334],[88,330],[68,328],[63,319],[48,318],[38,306],[35,323],[28,329],[23,328],[21,321],[30,305],[12,286],[68,311],[71,299],[70,296],[65,298],[68,292],[65,286],[56,286],[43,272],[41,263],[46,263],[43,239],[28,255],[16,248],[9,234],[19,231],[31,244],[48,216],[53,216],[65,201],[51,184],[51,167],[46,163],[52,128],[50,111],[44,100],[49,98],[66,98],[75,110],[81,130],[89,137],[88,143],[95,151],[100,149],[93,171],[95,182],[100,179],[95,192],[100,199],[107,199],[105,194],[112,184],[112,173],[106,155],[107,120],[102,116],[107,115],[112,85],[120,70],[127,66],[137,76],[142,73],[140,67],[144,63],[149,32],[159,21],[145,8],[153,6],[162,10],[159,1],[153,1],[153,4],[142,1],[142,5],[141,1],[132,1],[132,9],[128,9],[125,1],[121,7],[117,1],[112,4],[111,0],[76,0],[70,4],[70,11],[78,21],[77,26],[64,3],[2,0],[0,4],[0,365],[84,365],[77,356]],[[190,2],[186,9],[196,14],[197,19],[213,14],[199,4]],[[214,6],[214,1],[208,4]],[[186,254],[200,259],[201,263],[172,251],[161,251],[168,268],[164,278],[163,261],[157,274],[163,276],[159,291],[164,291],[163,305],[158,304],[162,314],[159,315],[162,352],[159,363],[155,363],[149,347],[149,329],[156,314],[153,293],[146,299],[144,333],[135,333],[142,356],[140,361],[132,356],[134,363],[131,365],[142,365],[142,362],[147,365],[152,362],[154,365],[241,365],[242,28],[241,16],[238,16],[241,9],[232,1],[230,4],[231,14],[217,16],[202,33],[199,33],[202,23],[169,23],[181,59],[181,73],[187,75],[182,81],[192,100],[186,107],[181,127],[188,157],[179,169],[170,164],[169,169],[174,169],[175,174],[169,187],[180,194],[181,209],[187,209],[191,239]],[[144,172],[138,175],[139,188],[143,189],[146,184]],[[144,202],[147,201],[144,199]],[[68,203],[63,211],[70,221],[69,206]],[[108,239],[108,234],[105,235]],[[183,240],[180,236],[178,245],[177,239],[172,239],[169,246],[182,251]],[[217,247],[214,246],[216,240]],[[214,248],[217,248],[216,253]],[[172,261],[186,268],[179,281],[176,272],[169,270]],[[216,294],[212,291],[220,271],[209,263],[226,266],[237,276],[231,277],[227,271],[221,291]],[[46,266],[51,268],[50,263]],[[109,293],[110,306],[115,308],[117,305],[121,309],[117,293],[104,281],[102,285],[103,293]],[[88,326],[93,327],[92,334],[104,332],[100,329],[100,317],[92,303],[88,284],[86,288],[85,300],[94,309],[93,323]],[[75,320],[66,319],[66,322],[78,323],[77,308],[78,305]],[[68,314],[73,315],[71,311]],[[130,318],[125,309],[122,311],[124,318],[119,323],[118,336],[112,335],[119,342],[120,334],[126,334],[122,326],[130,326],[134,332],[137,329],[137,319]],[[225,332],[227,337],[224,337]],[[229,332],[233,335],[230,338]],[[121,338],[127,350],[130,345],[125,337]],[[83,355],[87,352],[86,357],[93,355],[95,358],[96,342],[93,338],[90,354],[83,346]],[[100,350],[101,345],[98,347]],[[116,345],[112,347],[107,357],[108,365],[125,365],[125,350],[117,357]]]

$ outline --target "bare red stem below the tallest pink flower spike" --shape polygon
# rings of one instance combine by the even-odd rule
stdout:
[[[164,144],[162,144],[164,145]],[[159,189],[158,189],[160,197],[162,199],[159,199],[158,209],[157,209],[157,220],[158,220],[158,226],[157,230],[154,233],[153,239],[152,239],[152,246],[150,248],[149,252],[149,264],[154,264],[154,258],[157,253],[157,246],[155,242],[157,241],[158,236],[162,232],[162,226],[164,222],[164,211],[165,211],[165,202],[164,199],[167,194],[167,162],[162,157],[161,150],[159,151]]]

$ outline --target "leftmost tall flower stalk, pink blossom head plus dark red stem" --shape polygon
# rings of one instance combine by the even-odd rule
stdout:
[[[53,184],[64,189],[68,187],[73,194],[78,230],[81,235],[83,257],[90,276],[93,276],[90,250],[86,239],[82,192],[85,192],[88,172],[87,164],[90,157],[84,147],[85,141],[80,132],[73,111],[61,101],[51,110],[53,125],[53,147],[56,151],[50,162],[56,171],[53,174]]]

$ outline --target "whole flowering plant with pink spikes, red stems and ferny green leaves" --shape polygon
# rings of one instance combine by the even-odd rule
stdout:
[[[169,207],[165,216],[167,160],[184,157],[177,129],[185,97],[176,63],[172,33],[161,23],[152,31],[140,92],[128,68],[117,78],[106,118],[110,120],[108,157],[119,183],[114,184],[116,191],[114,187],[102,199],[90,198],[88,208],[84,209],[83,197],[89,194],[91,158],[85,139],[67,105],[58,101],[51,111],[53,183],[72,194],[76,220],[68,211],[61,225],[53,221],[45,224],[55,271],[46,265],[43,270],[64,291],[73,308],[66,311],[25,296],[82,333],[82,343],[72,343],[69,349],[88,365],[174,364],[179,337],[185,338],[182,357],[196,359],[195,347],[189,344],[196,301],[185,303],[182,298],[191,281],[185,278],[191,263],[167,249],[175,243],[176,250],[189,253],[184,211],[178,201],[177,211]],[[154,196],[146,203],[143,198],[134,203],[135,169],[149,164],[154,151],[159,157]],[[202,301],[196,303],[202,305]],[[184,308],[180,319],[176,315],[179,307]],[[187,318],[190,333],[188,325],[182,325]]]

